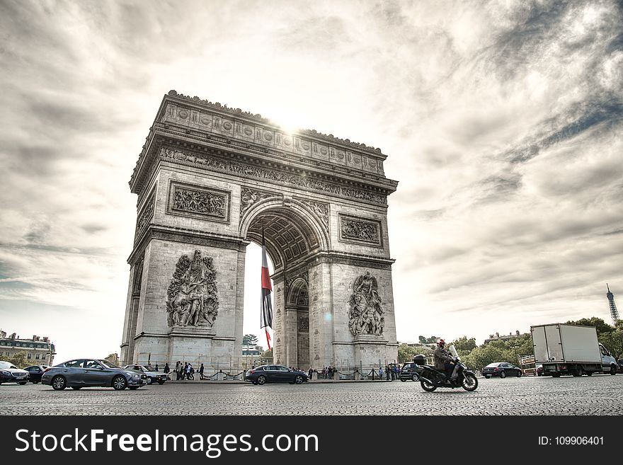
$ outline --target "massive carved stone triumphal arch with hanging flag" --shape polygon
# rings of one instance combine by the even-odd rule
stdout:
[[[122,362],[237,357],[245,251],[262,230],[275,267],[276,363],[396,360],[387,196],[397,183],[384,176],[386,158],[170,91],[130,180]],[[259,306],[258,289],[258,321]]]

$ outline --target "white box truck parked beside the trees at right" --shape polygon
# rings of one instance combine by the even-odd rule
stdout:
[[[554,323],[530,326],[530,332],[535,363],[543,366],[544,375],[617,374],[617,360],[598,342],[594,326]]]

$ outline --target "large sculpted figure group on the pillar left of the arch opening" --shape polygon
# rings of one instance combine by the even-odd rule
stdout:
[[[213,326],[219,314],[216,270],[212,258],[195,251],[193,260],[183,255],[166,292],[168,326]]]

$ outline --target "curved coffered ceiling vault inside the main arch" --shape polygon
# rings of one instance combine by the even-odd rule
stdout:
[[[320,248],[319,238],[309,223],[294,209],[270,207],[251,220],[246,239],[262,243],[273,260],[275,271],[291,268]]]

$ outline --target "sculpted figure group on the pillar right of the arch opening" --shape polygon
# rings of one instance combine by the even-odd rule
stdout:
[[[348,327],[354,336],[360,334],[382,335],[385,327],[384,311],[378,292],[377,278],[365,272],[353,283],[350,296]]]

